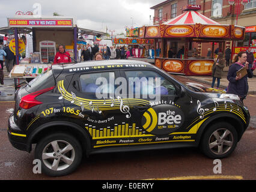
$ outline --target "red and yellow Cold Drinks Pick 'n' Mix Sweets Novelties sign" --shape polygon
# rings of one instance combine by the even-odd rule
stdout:
[[[72,27],[73,19],[8,19],[10,27]]]

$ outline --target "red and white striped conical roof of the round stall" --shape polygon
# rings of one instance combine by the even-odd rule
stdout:
[[[196,23],[200,23],[202,25],[221,25],[218,22],[215,22],[212,19],[204,16],[203,14],[197,13],[197,11],[189,10],[185,13],[168,20],[163,23],[165,25],[195,25]]]

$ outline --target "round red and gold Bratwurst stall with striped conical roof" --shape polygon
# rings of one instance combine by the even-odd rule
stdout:
[[[139,38],[154,38],[154,49],[160,49],[160,56],[155,57],[155,65],[168,73],[186,76],[210,76],[213,65],[214,43],[219,43],[219,50],[225,49],[227,40],[243,40],[245,28],[234,25],[221,25],[203,14],[197,13],[200,5],[187,5],[184,13],[160,25],[139,28]],[[201,57],[191,55],[195,49],[203,49],[202,43],[213,42],[212,55]],[[197,43],[198,47],[192,47]],[[168,58],[169,48],[181,49],[180,56]],[[199,56],[198,56],[199,55]]]

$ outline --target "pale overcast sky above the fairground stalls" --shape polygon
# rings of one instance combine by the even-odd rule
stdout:
[[[75,17],[79,27],[106,32],[106,26],[114,34],[125,33],[126,26],[143,26],[153,19],[154,5],[165,0],[0,0],[0,27],[8,26],[7,17],[15,16],[16,11],[34,11],[33,5],[41,5],[43,16]],[[151,20],[151,23],[153,20]],[[108,32],[109,32],[108,31]],[[110,32],[109,32],[110,33]]]

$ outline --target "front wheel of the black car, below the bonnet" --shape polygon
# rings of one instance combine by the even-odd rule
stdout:
[[[237,145],[237,131],[227,122],[218,122],[207,128],[201,140],[201,151],[209,158],[225,158]]]

